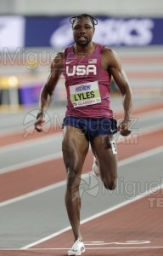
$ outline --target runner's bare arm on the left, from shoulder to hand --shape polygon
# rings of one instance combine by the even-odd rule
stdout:
[[[53,93],[56,85],[58,84],[60,75],[62,73],[64,63],[64,54],[59,52],[54,56],[50,67],[50,74],[46,84],[42,87],[40,94],[39,107],[40,112],[37,114],[37,122],[35,123],[35,129],[42,131],[42,125],[45,122],[45,113],[53,100]]]

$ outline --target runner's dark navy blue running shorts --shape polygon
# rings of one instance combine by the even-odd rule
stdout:
[[[118,131],[116,120],[107,118],[77,118],[69,115],[63,120],[63,128],[67,125],[80,129],[88,141],[93,137],[111,135]]]

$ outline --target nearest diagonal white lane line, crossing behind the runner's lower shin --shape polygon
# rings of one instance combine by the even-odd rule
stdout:
[[[162,189],[162,188],[163,188],[163,184],[161,184],[161,185],[157,188],[157,190]],[[156,190],[155,190],[155,192],[156,192]],[[98,212],[97,214],[94,214],[94,215],[92,215],[92,216],[89,217],[89,218],[83,219],[83,220],[81,221],[81,224],[85,224],[85,223],[87,223],[87,222],[93,220],[94,218],[98,218],[98,217],[103,216],[104,214],[107,214],[107,213],[110,213],[110,212],[114,212],[115,210],[117,210],[117,209],[119,209],[119,208],[121,208],[121,207],[125,207],[126,205],[129,205],[129,204],[131,204],[131,203],[134,202],[134,201],[138,201],[138,200],[142,199],[143,197],[145,197],[146,195],[150,195],[150,194],[151,194],[151,190],[148,190],[148,191],[146,191],[143,195],[138,195],[138,196],[136,196],[135,198],[133,198],[132,200],[121,202],[120,204],[117,204],[115,207],[110,207],[110,208],[107,209],[107,210],[104,210],[104,211],[102,211],[102,212]],[[63,229],[63,230],[59,230],[58,232],[55,232],[55,233],[53,233],[53,234],[50,235],[50,236],[46,236],[46,237],[44,237],[44,238],[42,238],[42,239],[40,239],[40,240],[38,240],[38,241],[31,242],[30,244],[26,245],[25,247],[21,247],[20,250],[21,250],[21,249],[28,249],[28,248],[30,248],[30,247],[34,247],[34,246],[36,246],[37,244],[42,243],[42,242],[44,242],[44,241],[48,241],[49,239],[52,239],[52,238],[55,237],[55,236],[59,236],[59,235],[65,233],[65,232],[68,231],[68,230],[71,230],[71,227],[70,227],[70,226],[66,227],[66,228]],[[110,248],[110,247],[105,247],[105,248]],[[113,247],[113,248],[115,248],[115,247]],[[121,248],[124,248],[124,247],[121,247]],[[131,248],[131,247],[126,247],[126,248]],[[132,247],[132,248],[133,248],[133,247]],[[135,247],[135,248],[137,248],[137,247]],[[141,248],[142,248],[142,247],[141,247]],[[150,248],[150,247],[149,247],[149,248]],[[98,249],[101,249],[101,247],[98,247]]]

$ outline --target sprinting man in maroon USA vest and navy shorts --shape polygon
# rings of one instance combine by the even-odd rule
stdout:
[[[63,73],[67,92],[62,143],[67,172],[65,206],[75,237],[68,255],[81,255],[85,251],[80,231],[79,185],[82,166],[90,144],[94,155],[94,172],[101,177],[106,189],[115,189],[117,151],[114,134],[120,131],[122,136],[127,136],[131,132],[132,90],[115,51],[92,40],[98,20],[84,14],[71,17],[70,23],[75,44],[53,58],[51,73],[41,91],[35,128],[42,131],[45,113]],[[124,117],[118,127],[110,109],[111,76],[123,96]]]

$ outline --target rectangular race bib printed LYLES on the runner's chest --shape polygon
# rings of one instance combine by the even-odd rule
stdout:
[[[70,102],[74,108],[100,103],[98,81],[70,86]]]

